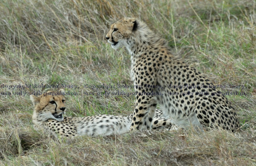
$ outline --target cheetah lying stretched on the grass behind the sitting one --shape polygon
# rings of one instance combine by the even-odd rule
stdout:
[[[111,135],[129,132],[133,114],[122,117],[114,115],[98,115],[89,117],[63,117],[66,112],[64,90],[49,91],[47,95],[30,95],[35,110],[32,122],[35,128],[47,128],[66,137],[77,135]],[[156,111],[152,128],[171,127],[171,122]]]

